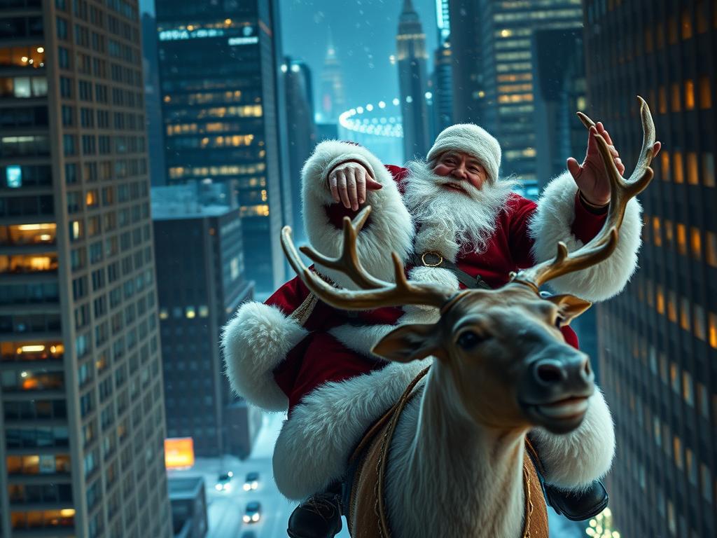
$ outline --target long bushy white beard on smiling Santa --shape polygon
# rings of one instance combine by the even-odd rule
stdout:
[[[476,189],[468,181],[439,176],[422,161],[407,164],[404,203],[419,227],[416,252],[435,251],[450,258],[483,253],[495,234],[495,217],[505,208],[517,181],[485,181]],[[460,185],[464,192],[443,187]]]

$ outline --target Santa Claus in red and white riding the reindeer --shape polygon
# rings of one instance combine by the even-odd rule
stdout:
[[[390,253],[395,252],[412,280],[438,281],[453,288],[498,288],[511,273],[555,254],[564,241],[569,250],[599,231],[609,204],[609,183],[594,136],[611,147],[622,174],[625,166],[601,123],[590,128],[582,164],[569,159],[568,171],[551,181],[538,203],[513,193],[515,181],[498,176],[500,144],[472,124],[445,129],[426,161],[406,168],[384,166],[369,150],[341,141],[320,143],[303,169],[306,237],[320,253],[340,253],[343,217],[366,204],[373,208],[357,240],[359,259],[369,273],[394,280]],[[655,144],[654,154],[660,149]],[[559,293],[602,301],[619,293],[637,265],[640,205],[632,200],[619,232],[617,252],[592,268],[557,278]],[[336,285],[353,288],[345,275],[317,265]],[[396,324],[435,321],[427,308],[381,308],[351,313],[318,301],[295,278],[266,303],[245,303],[224,330],[227,375],[238,395],[266,410],[289,410],[277,440],[275,480],[291,499],[307,499],[292,516],[295,538],[333,537],[341,529],[336,496],[314,495],[340,481],[346,461],[361,435],[393,403],[415,372],[371,353]],[[566,341],[577,346],[564,328]],[[357,397],[363,395],[363,397]],[[602,401],[602,397],[600,397]],[[607,407],[591,405],[597,417],[610,420]],[[602,413],[602,415],[601,415]],[[536,446],[540,451],[539,438]],[[579,469],[588,490],[583,496],[553,491],[554,505],[581,517],[604,504],[595,478],[609,468],[613,440],[586,440],[594,469]],[[546,483],[560,485],[569,462]],[[550,496],[550,486],[548,486]]]

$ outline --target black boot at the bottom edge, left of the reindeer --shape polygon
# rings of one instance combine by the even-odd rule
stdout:
[[[341,497],[323,492],[310,496],[293,511],[286,530],[291,538],[333,538],[341,532]]]

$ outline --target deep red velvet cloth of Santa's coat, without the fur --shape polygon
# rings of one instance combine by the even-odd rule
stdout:
[[[386,168],[395,181],[401,181],[408,173],[407,169],[399,166]],[[493,288],[500,288],[508,283],[512,271],[533,265],[533,240],[528,234],[528,220],[536,207],[535,202],[511,194],[505,210],[500,212],[496,219],[495,234],[487,250],[481,254],[461,255],[457,265],[471,276],[480,275]],[[341,204],[326,207],[326,212],[331,223],[337,228],[341,227],[341,220],[345,215],[354,215],[351,209],[346,209]],[[604,215],[589,212],[576,196],[575,219],[571,230],[576,238],[582,242],[591,240],[602,227],[604,218]],[[282,311],[290,314],[300,306],[308,293],[303,282],[294,278],[282,285],[266,304],[280,307]],[[400,308],[350,313],[339,311],[319,301],[304,325],[310,334],[291,349],[286,359],[274,369],[274,379],[287,395],[289,409],[320,384],[365,374],[386,364],[380,359],[366,357],[348,349],[328,334],[328,330],[345,324],[395,324],[401,315]],[[569,344],[578,346],[577,336],[572,329],[564,327],[563,334]]]

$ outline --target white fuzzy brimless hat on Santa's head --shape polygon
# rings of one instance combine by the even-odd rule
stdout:
[[[488,172],[488,177],[493,181],[498,179],[500,144],[484,128],[474,123],[458,123],[443,129],[426,158],[431,161],[450,150],[462,151],[478,159]]]

